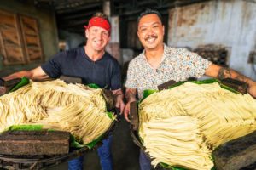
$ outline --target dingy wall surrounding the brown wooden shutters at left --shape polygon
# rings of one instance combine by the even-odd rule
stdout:
[[[55,24],[54,11],[45,8],[36,8],[33,1],[8,0],[0,2],[0,9],[15,14],[24,14],[38,20],[38,29],[40,32],[41,44],[43,48],[44,61],[58,52],[58,34]],[[44,62],[43,61],[43,62]],[[34,68],[41,63],[29,65],[3,65],[0,60],[0,76],[9,74],[12,71]]]

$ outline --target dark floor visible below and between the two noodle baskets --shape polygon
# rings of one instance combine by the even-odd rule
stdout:
[[[129,123],[121,117],[117,127],[113,131],[113,170],[139,170],[139,148],[132,142]],[[47,170],[66,170],[67,162]],[[90,150],[84,156],[85,170],[101,170],[96,150]]]

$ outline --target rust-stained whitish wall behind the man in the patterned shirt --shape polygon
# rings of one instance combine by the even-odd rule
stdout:
[[[168,44],[197,48],[221,45],[229,50],[228,65],[256,80],[248,63],[256,44],[256,3],[253,1],[210,1],[169,10]],[[255,65],[256,66],[256,65]]]

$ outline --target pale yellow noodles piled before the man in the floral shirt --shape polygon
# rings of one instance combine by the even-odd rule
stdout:
[[[151,94],[139,105],[139,135],[154,167],[164,162],[211,169],[212,150],[256,129],[256,100],[218,82],[185,82]]]

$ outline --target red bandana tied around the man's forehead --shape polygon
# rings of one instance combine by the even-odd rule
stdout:
[[[104,28],[105,30],[108,31],[108,33],[110,34],[111,31],[111,26],[108,23],[108,20],[103,19],[102,17],[92,17],[89,20],[88,26],[84,26],[85,29],[89,29],[91,26],[99,26]]]

